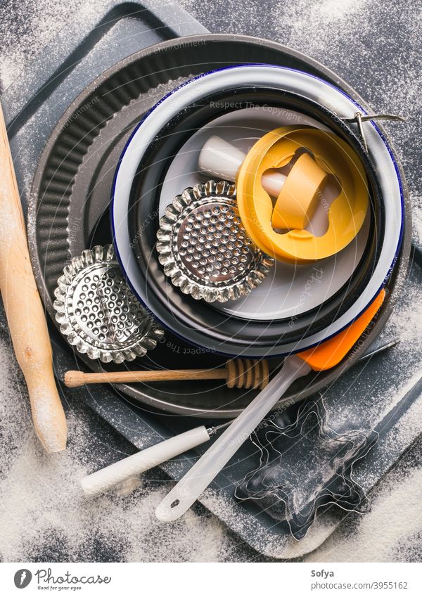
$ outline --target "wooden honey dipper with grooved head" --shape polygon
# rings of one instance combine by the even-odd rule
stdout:
[[[269,381],[265,360],[234,359],[216,369],[168,369],[165,371],[103,371],[84,373],[66,371],[65,385],[79,387],[87,383],[140,383],[148,381],[225,380],[227,387],[262,390]]]

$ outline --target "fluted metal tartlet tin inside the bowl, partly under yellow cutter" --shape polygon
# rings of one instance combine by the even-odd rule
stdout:
[[[207,302],[247,295],[274,264],[246,234],[236,186],[226,181],[210,180],[177,195],[157,238],[166,276],[182,293]]]

